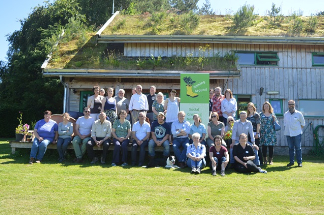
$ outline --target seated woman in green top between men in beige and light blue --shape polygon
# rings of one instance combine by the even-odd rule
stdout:
[[[115,148],[113,149],[112,153],[112,167],[116,167],[119,163],[119,151],[120,147],[122,148],[122,166],[127,166],[127,146],[130,143],[130,136],[131,136],[131,123],[129,120],[126,119],[127,114],[125,110],[121,110],[119,112],[119,118],[117,119],[112,125],[111,134],[113,136],[112,143],[114,144]]]

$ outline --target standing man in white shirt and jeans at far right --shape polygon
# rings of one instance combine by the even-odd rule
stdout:
[[[295,109],[295,101],[288,101],[288,108],[284,114],[284,135],[287,138],[289,147],[289,164],[287,167],[291,167],[295,164],[295,150],[298,167],[302,167],[302,155],[301,155],[301,134],[302,128],[305,126],[305,119],[299,111]]]

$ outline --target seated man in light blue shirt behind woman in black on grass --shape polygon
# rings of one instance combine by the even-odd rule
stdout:
[[[253,162],[254,162],[255,165],[260,166],[260,160],[259,160],[259,156],[258,156],[259,147],[255,144],[255,138],[254,138],[254,133],[253,133],[253,125],[252,125],[252,122],[250,122],[246,118],[247,118],[246,112],[242,111],[240,113],[240,119],[236,120],[234,122],[233,130],[232,130],[232,144],[230,145],[230,152],[231,152],[230,164],[231,165],[234,164],[234,157],[233,157],[233,153],[232,153],[233,146],[234,146],[235,143],[239,143],[239,136],[242,133],[244,133],[246,135],[249,134],[250,138],[251,138],[252,143],[249,143],[249,142],[247,142],[247,143],[253,146],[253,150],[254,150],[254,153],[256,155],[256,158],[254,159]],[[233,166],[231,166],[230,168],[232,168],[232,167]]]

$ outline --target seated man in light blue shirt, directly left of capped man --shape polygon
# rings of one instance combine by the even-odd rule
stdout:
[[[151,126],[145,121],[146,112],[139,112],[138,121],[133,125],[132,137],[134,139],[132,143],[132,166],[136,165],[137,148],[139,146],[139,161],[138,166],[143,166],[145,158],[145,147],[148,145],[148,139],[150,138]]]

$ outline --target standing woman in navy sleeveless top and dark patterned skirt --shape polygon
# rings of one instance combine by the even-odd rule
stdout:
[[[113,123],[117,119],[117,106],[116,106],[116,100],[113,96],[113,89],[108,88],[107,90],[107,96],[104,97],[102,106],[101,106],[101,112],[104,112],[106,116],[109,118],[109,121],[113,125]]]

